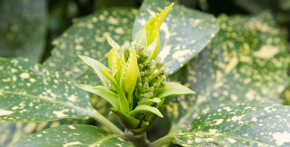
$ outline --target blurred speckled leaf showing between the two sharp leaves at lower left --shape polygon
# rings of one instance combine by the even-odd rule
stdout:
[[[1,123],[0,124],[0,146],[12,147],[17,141],[37,133],[46,128],[60,126],[62,124],[82,124],[88,123],[76,119],[61,119],[57,121],[42,122],[42,123]],[[11,137],[13,136],[13,137]]]

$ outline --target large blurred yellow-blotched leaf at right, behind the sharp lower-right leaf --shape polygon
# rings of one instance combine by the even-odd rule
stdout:
[[[289,83],[285,38],[270,14],[222,14],[212,42],[168,81],[179,81],[195,95],[169,98],[171,131],[184,128],[200,113],[237,102],[280,103]]]

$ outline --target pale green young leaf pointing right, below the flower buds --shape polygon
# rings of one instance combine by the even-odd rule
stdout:
[[[174,82],[166,82],[166,85],[154,91],[153,97],[162,99],[172,95],[188,95],[195,94],[194,91],[190,90],[186,86],[180,85]]]

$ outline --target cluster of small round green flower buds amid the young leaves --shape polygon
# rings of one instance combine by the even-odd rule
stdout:
[[[124,47],[125,58],[129,58],[131,46]],[[154,91],[166,85],[166,69],[163,66],[164,60],[149,60],[148,53],[144,46],[135,46],[138,68],[142,82],[136,84],[135,96],[139,101],[153,99]],[[138,103],[139,104],[139,103]]]

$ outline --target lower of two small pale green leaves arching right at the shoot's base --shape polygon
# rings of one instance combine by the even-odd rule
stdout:
[[[159,117],[163,117],[157,108],[148,105],[137,105],[134,110],[128,113],[128,115],[135,117],[135,115],[139,112],[151,112],[158,115]]]

